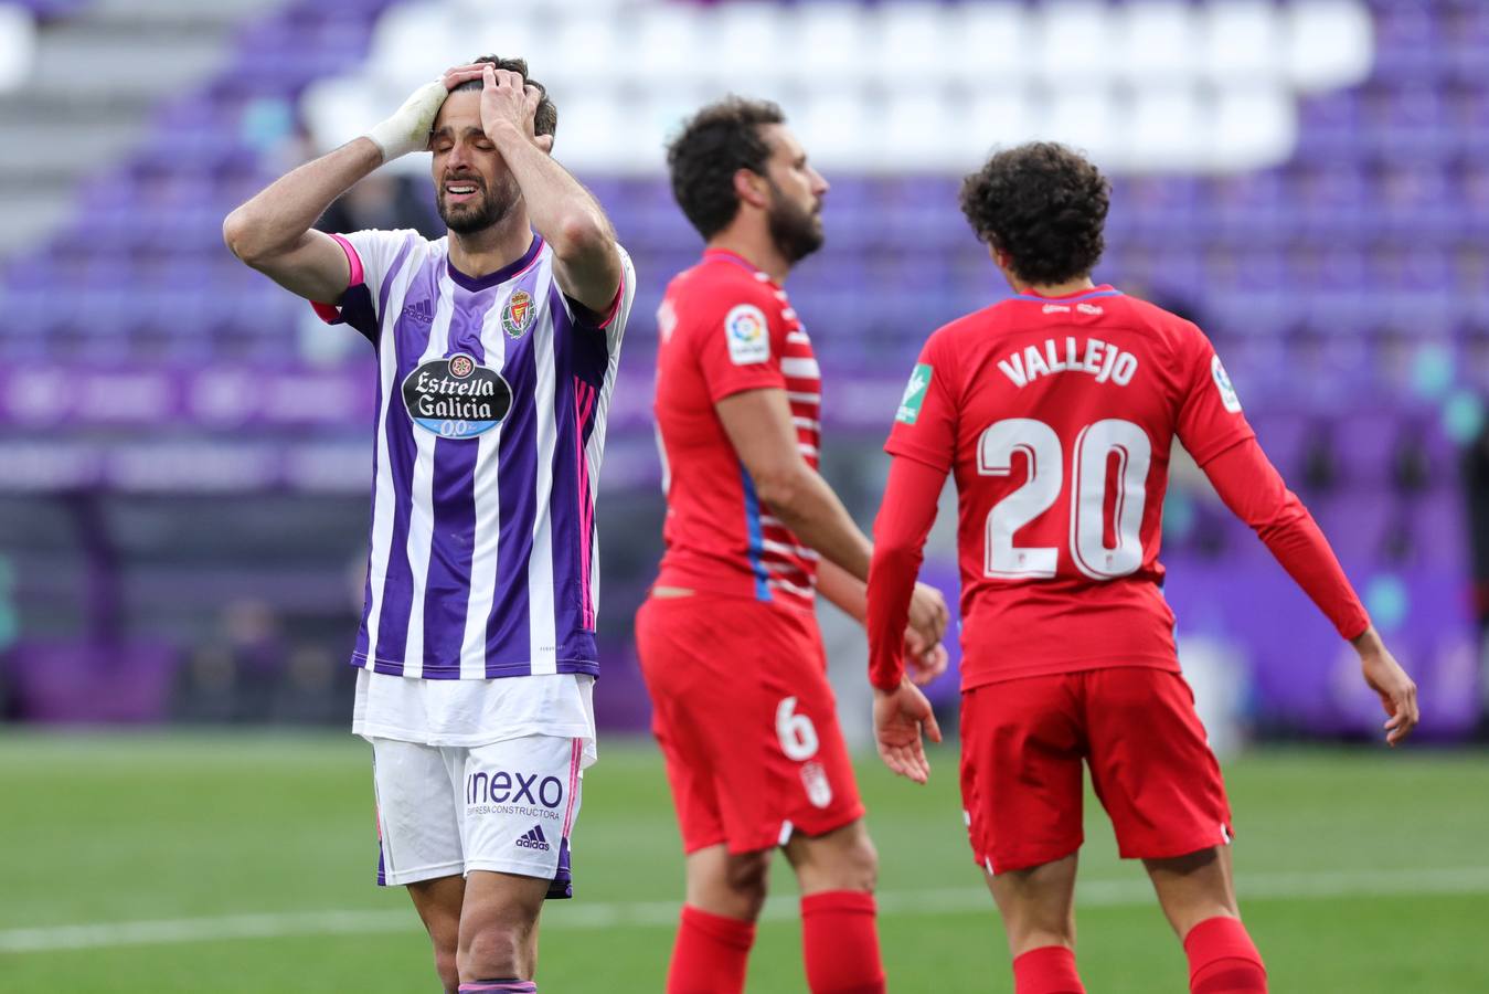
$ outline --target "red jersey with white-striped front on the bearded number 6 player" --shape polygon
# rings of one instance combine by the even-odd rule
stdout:
[[[657,311],[657,431],[667,523],[658,586],[812,607],[817,554],[768,507],[713,405],[786,390],[797,444],[814,469],[822,382],[786,292],[744,258],[709,249]]]

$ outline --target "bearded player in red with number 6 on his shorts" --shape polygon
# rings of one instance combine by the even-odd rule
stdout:
[[[864,618],[870,545],[816,472],[820,374],[782,289],[822,244],[828,185],[779,107],[739,98],[688,121],[667,162],[707,243],[658,313],[667,551],[636,617],[686,854],[667,990],[743,990],[780,846],[801,885],[810,988],[883,991],[877,861],[813,614],[820,589]],[[947,610],[929,587],[911,601],[911,656],[929,678],[946,668]]]

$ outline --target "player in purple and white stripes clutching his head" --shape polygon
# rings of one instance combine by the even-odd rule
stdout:
[[[244,262],[377,350],[372,541],[351,663],[378,882],[408,887],[447,991],[535,991],[594,762],[594,493],[634,274],[551,156],[521,60],[427,83],[238,207]],[[359,179],[432,151],[448,237],[328,235]]]

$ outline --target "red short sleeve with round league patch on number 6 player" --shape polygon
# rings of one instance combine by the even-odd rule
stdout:
[[[688,328],[709,401],[744,390],[786,389],[780,353],[786,344],[780,307],[768,288],[731,291],[700,308]]]

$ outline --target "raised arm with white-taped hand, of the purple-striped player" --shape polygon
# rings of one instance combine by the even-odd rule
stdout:
[[[424,83],[365,136],[274,180],[228,215],[223,241],[292,294],[335,303],[347,289],[351,264],[331,235],[311,225],[377,167],[429,148],[429,128],[447,92],[445,80]]]

